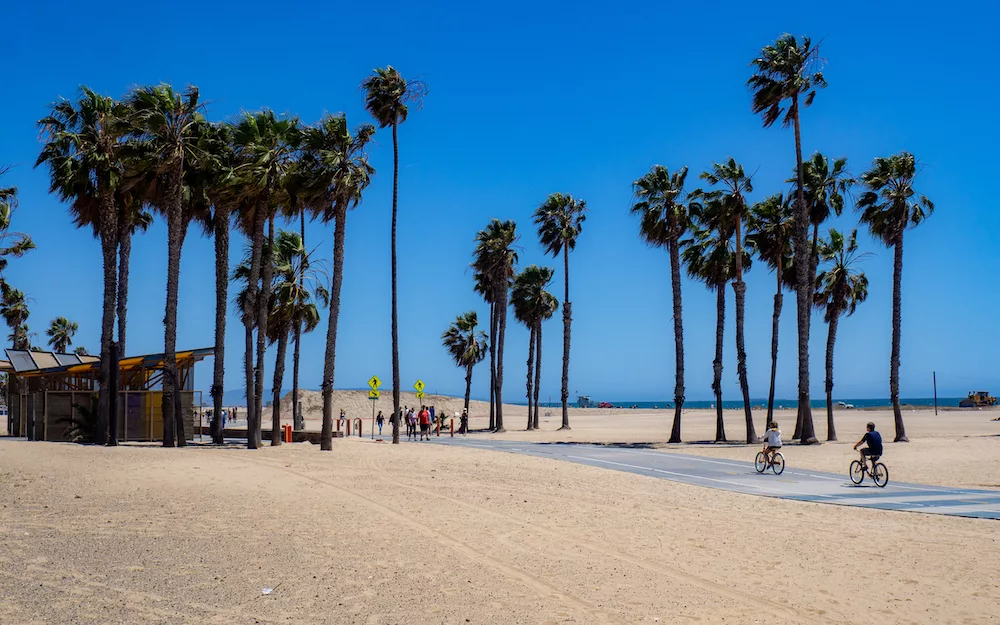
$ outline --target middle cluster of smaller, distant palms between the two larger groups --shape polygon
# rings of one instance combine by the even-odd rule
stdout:
[[[587,203],[571,195],[553,193],[533,215],[538,240],[547,254],[563,257],[565,296],[563,299],[563,369],[562,426],[569,425],[569,354],[572,304],[569,297],[569,253],[587,218]],[[475,311],[459,315],[441,336],[455,364],[466,371],[465,408],[469,408],[472,367],[490,357],[490,423],[494,432],[505,430],[503,421],[503,359],[507,332],[507,308],[528,328],[528,400],[527,429],[538,428],[538,397],[542,372],[542,322],[552,318],[559,309],[559,300],[547,290],[554,270],[529,265],[521,272],[516,269],[518,253],[517,224],[493,219],[476,234],[476,248],[471,268],[475,291],[490,305],[489,339],[476,330]]]

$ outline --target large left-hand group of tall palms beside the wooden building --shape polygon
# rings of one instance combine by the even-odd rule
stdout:
[[[419,103],[422,84],[392,67],[365,79],[365,105],[381,127],[393,131],[406,120],[407,104]],[[212,384],[213,440],[222,442],[226,308],[230,280],[244,288],[235,298],[245,333],[248,447],[261,444],[264,353],[277,344],[272,444],[278,427],[284,357],[294,343],[293,407],[298,405],[301,335],[319,324],[319,306],[329,304],[323,370],[322,448],[331,449],[337,319],[344,270],[346,217],[371,182],[369,143],[375,128],[351,129],[343,114],[313,125],[271,110],[244,112],[230,122],[210,122],[196,87],[176,91],[160,84],[137,87],[121,99],[82,87],[75,101],[60,100],[40,120],[44,145],[37,165],[50,173],[51,191],[69,203],[78,227],[92,228],[101,243],[104,272],[101,324],[99,431],[115,444],[114,393],[109,393],[111,344],[118,321],[124,353],[131,237],[147,228],[152,214],[167,225],[167,285],[164,317],[163,444],[186,441],[177,378],[176,336],[181,249],[188,227],[199,223],[215,239],[215,371]],[[394,170],[398,170],[398,158]],[[393,183],[393,378],[398,404],[396,342],[396,171]],[[330,287],[311,261],[305,243],[306,216],[334,223]],[[277,220],[298,220],[298,234],[275,228]],[[230,276],[229,233],[248,241],[246,262]],[[293,408],[293,411],[295,408]],[[298,423],[301,427],[301,423]],[[395,428],[394,428],[395,429]],[[102,434],[102,439],[104,435]],[[398,431],[394,432],[398,440]]]

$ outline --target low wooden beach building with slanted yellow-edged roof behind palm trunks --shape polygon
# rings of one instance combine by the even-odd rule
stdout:
[[[7,349],[0,373],[7,375],[7,431],[28,440],[62,441],[79,407],[96,404],[101,359],[97,356]],[[194,390],[195,363],[213,348],[177,351],[177,373],[184,433],[201,432],[201,391]],[[163,439],[163,354],[129,356],[118,361],[119,441]],[[92,404],[93,402],[93,404]]]

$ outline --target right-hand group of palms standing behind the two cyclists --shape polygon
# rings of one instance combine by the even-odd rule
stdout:
[[[676,382],[671,442],[681,440],[681,408],[684,403],[684,343],[680,288],[681,268],[715,291],[717,298],[716,350],[712,389],[716,398],[716,440],[726,440],[722,420],[722,346],[725,327],[725,287],[732,282],[736,299],[737,373],[743,394],[746,440],[757,440],[747,386],[744,348],[744,273],[754,257],[775,272],[776,291],[771,341],[771,383],[767,419],[774,410],[774,386],[778,355],[778,321],[783,290],[794,289],[798,316],[798,416],[794,438],[817,442],[809,397],[809,331],[814,307],[823,310],[828,324],[826,349],[827,440],[836,440],[833,422],[833,352],[838,320],[852,314],[867,297],[868,281],[857,264],[866,254],[858,253],[857,230],[844,235],[830,229],[821,238],[820,227],[832,215],[840,215],[852,190],[860,186],[855,206],[859,221],[895,254],[893,270],[892,353],[889,390],[895,416],[896,441],[906,432],[899,406],[900,285],[903,234],[921,223],[934,209],[933,203],[914,190],[918,162],[908,152],[876,158],[859,179],[852,178],[846,159],[831,161],[819,152],[803,161],[800,111],[808,107],[816,89],[826,87],[818,71],[818,50],[808,37],[798,40],[781,36],[763,48],[751,66],[747,82],[753,93],[752,111],[761,114],[765,127],[782,119],[795,134],[795,169],[788,180],[788,194],[776,193],[750,204],[752,175],[735,159],[714,163],[700,175],[706,188],[685,190],[688,170],[671,173],[656,165],[633,185],[631,210],[640,219],[640,237],[670,254],[673,287]],[[811,237],[810,237],[811,228]],[[821,273],[820,266],[824,269]]]

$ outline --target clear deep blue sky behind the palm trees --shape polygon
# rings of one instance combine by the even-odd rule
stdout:
[[[640,243],[628,213],[630,183],[655,163],[692,173],[736,157],[756,171],[759,199],[784,190],[794,165],[791,131],[762,129],[744,87],[749,61],[783,32],[822,39],[830,87],[802,120],[803,149],[846,156],[859,174],[875,156],[909,150],[924,163],[918,190],[937,213],[906,235],[903,274],[904,397],[996,389],[997,235],[995,146],[998,87],[993,62],[997,11],[988,3],[616,2],[569,6],[468,3],[14,3],[6,9],[0,163],[16,167],[14,229],[39,249],[13,261],[10,282],[33,298],[39,333],[66,315],[77,344],[98,348],[101,268],[97,242],[75,230],[32,169],[35,121],[80,84],[121,96],[136,84],[196,84],[208,116],[232,119],[269,107],[316,121],[344,111],[370,121],[360,81],[392,64],[430,88],[400,129],[400,340],[404,388],[459,394],[462,373],[439,335],[461,311],[486,306],[467,270],[472,239],[491,217],[517,221],[522,264],[552,263],[537,244],[533,209],[560,191],[585,198],[590,216],[571,257],[574,300],[570,393],[610,400],[666,399],[673,389],[666,253]],[[350,214],[336,383],[390,380],[389,221],[392,143],[377,136],[378,169]],[[693,180],[692,175],[689,180]],[[833,222],[850,228],[849,211]],[[157,223],[133,245],[130,353],[163,348],[166,234]],[[310,246],[329,258],[332,231],[308,227]],[[835,394],[887,397],[892,254],[867,233],[870,297],[840,326]],[[993,241],[992,243],[990,241]],[[233,260],[241,254],[234,245]],[[184,248],[178,346],[213,342],[213,247],[192,230]],[[556,263],[554,288],[562,289]],[[751,395],[765,396],[772,278],[748,278],[747,351]],[[715,298],[685,278],[687,395],[711,394]],[[739,397],[732,313],[727,311],[727,398]],[[778,396],[795,395],[793,298],[781,325]],[[242,387],[242,327],[230,315],[227,390]],[[325,329],[325,319],[323,328]],[[542,398],[558,397],[561,324],[545,327]],[[324,331],[303,348],[302,383],[316,388]],[[816,317],[812,389],[823,389],[826,327]],[[523,398],[527,332],[509,325],[505,397]],[[270,385],[271,359],[268,362]],[[290,371],[289,371],[290,375]],[[474,395],[487,394],[487,367]],[[205,363],[197,386],[211,384]],[[286,386],[291,380],[286,377]]]

